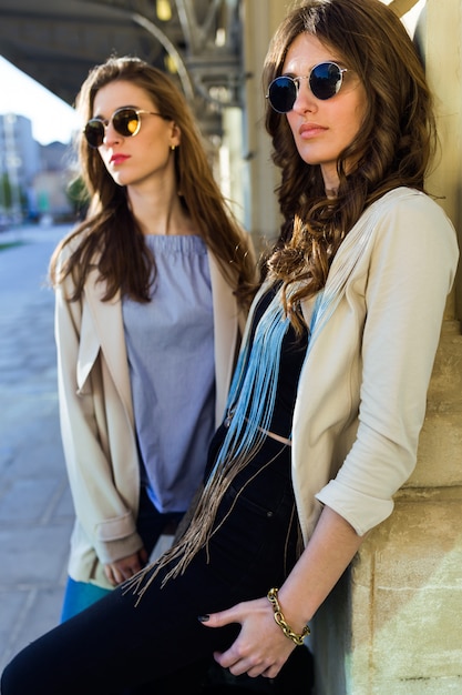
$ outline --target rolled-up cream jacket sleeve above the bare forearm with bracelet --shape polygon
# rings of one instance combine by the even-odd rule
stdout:
[[[374,235],[357,437],[335,480],[316,495],[360,535],[391,514],[393,494],[415,465],[458,258],[451,223],[423,194],[410,193],[388,210]]]

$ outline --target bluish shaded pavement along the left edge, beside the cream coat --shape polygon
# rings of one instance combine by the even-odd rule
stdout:
[[[0,671],[60,617],[72,502],[58,421],[54,296],[69,228],[0,232]]]

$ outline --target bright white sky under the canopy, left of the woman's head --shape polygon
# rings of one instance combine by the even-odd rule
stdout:
[[[0,114],[25,115],[40,144],[68,143],[79,128],[75,111],[62,99],[0,56]]]

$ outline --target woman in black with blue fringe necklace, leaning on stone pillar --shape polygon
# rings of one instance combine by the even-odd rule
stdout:
[[[308,0],[264,83],[284,220],[195,515],[152,567],[23,651],[3,695],[165,693],[182,669],[201,692],[193,666],[212,656],[274,678],[415,465],[459,255],[424,192],[422,66],[380,0]]]

